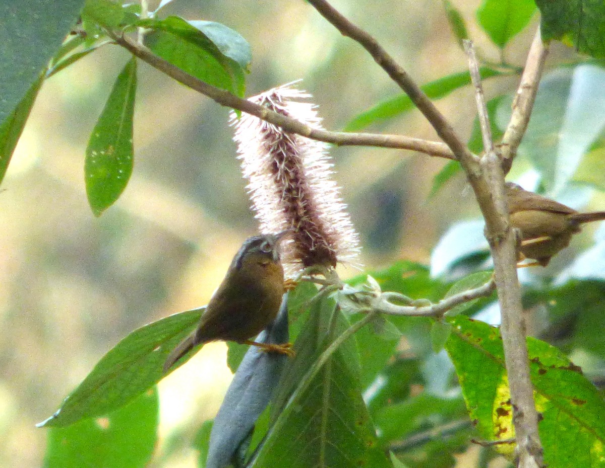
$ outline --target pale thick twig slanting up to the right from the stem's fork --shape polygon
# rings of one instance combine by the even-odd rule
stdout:
[[[501,153],[505,174],[508,174],[511,169],[512,161],[517,155],[517,148],[528,127],[546,56],[548,56],[548,45],[542,42],[540,27],[538,26],[534,41],[529,48],[528,59],[525,62],[525,69],[517,89],[517,95],[512,101],[511,120],[502,137]]]

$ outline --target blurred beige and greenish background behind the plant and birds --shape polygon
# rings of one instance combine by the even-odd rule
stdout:
[[[499,51],[473,18],[479,2],[454,3],[479,50],[498,60]],[[439,1],[334,4],[419,83],[466,69]],[[359,45],[303,1],[175,0],[162,10],[168,14],[218,21],[240,32],[253,53],[247,95],[302,78],[327,129],[341,129],[399,92]],[[522,65],[535,23],[514,39],[509,62]],[[567,53],[562,47],[553,52]],[[34,424],[50,416],[132,329],[205,304],[243,239],[256,231],[227,125],[229,109],[144,63],[134,173],[118,202],[93,216],[83,183],[84,150],[128,58],[117,46],[105,46],[45,82],[2,184],[0,466],[40,466],[46,432]],[[513,91],[515,83],[490,80],[488,98]],[[467,138],[473,91],[457,91],[437,105]],[[370,130],[436,139],[417,111]],[[331,154],[367,266],[399,258],[428,263],[431,247],[453,220],[477,214],[460,176],[428,199],[442,159],[369,148]],[[225,350],[222,343],[207,345],[160,384],[162,437],[175,428],[192,434],[217,411],[231,379]],[[171,467],[195,463],[192,449],[174,457]]]

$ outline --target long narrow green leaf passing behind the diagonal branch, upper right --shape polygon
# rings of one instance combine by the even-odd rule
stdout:
[[[497,71],[489,67],[481,67],[481,77],[485,80],[494,76],[503,75],[505,73]],[[428,97],[432,99],[438,99],[445,97],[456,89],[462,88],[462,86],[469,85],[471,83],[471,77],[468,71],[454,73],[447,75],[443,78],[427,83],[422,86]],[[403,114],[404,112],[410,111],[414,108],[414,103],[408,97],[407,94],[402,93],[395,97],[384,100],[376,106],[371,107],[367,111],[353,117],[351,121],[345,126],[345,132],[356,132],[364,129],[370,124],[376,123],[379,120],[391,119],[397,115]]]

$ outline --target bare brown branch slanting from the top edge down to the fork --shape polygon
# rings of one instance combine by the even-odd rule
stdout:
[[[329,2],[325,0],[309,0],[309,3],[329,21],[343,36],[350,37],[351,39],[358,42],[365,50],[370,53],[373,59],[384,69],[385,72],[391,77],[391,79],[403,89],[410,97],[412,102],[416,104],[419,111],[424,114],[427,120],[431,123],[433,128],[436,130],[437,135],[445,141],[445,143],[451,148],[456,159],[465,166],[465,170],[469,173],[471,178],[473,177],[473,168],[476,165],[473,164],[474,156],[466,145],[462,143],[460,138],[454,132],[449,121],[445,118],[439,109],[433,104],[433,102],[427,97],[426,94],[420,89],[420,86],[411,79],[410,75],[401,68],[395,62],[387,51],[360,27],[356,26],[352,22],[348,21],[347,18],[342,16],[336,8],[332,7]]]

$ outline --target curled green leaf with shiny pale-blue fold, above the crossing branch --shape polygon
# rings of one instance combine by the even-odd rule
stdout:
[[[243,95],[244,72],[252,56],[248,43],[236,31],[178,16],[138,24],[152,29],[145,43],[155,54],[210,85]]]

